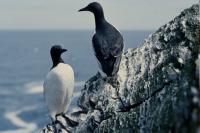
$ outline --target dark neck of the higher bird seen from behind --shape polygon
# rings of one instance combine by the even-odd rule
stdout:
[[[98,13],[94,14],[95,17],[95,25],[96,25],[96,30],[99,30],[102,28],[103,24],[105,23],[105,17],[104,17],[104,13],[103,10],[99,11]]]

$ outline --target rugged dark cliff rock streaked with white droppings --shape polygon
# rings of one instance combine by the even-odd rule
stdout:
[[[200,128],[196,64],[199,6],[184,10],[124,53],[118,77],[88,80],[78,105],[85,114],[71,132],[195,132]],[[47,131],[47,130],[46,130]]]

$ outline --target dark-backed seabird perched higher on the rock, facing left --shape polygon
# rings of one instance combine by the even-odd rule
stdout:
[[[104,17],[102,6],[93,2],[79,11],[90,11],[94,14],[96,33],[92,38],[95,55],[101,65],[101,69],[108,77],[115,76],[123,53],[124,43],[120,32]]]

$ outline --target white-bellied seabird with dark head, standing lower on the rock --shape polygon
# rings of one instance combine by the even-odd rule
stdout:
[[[74,90],[73,69],[61,58],[61,54],[65,51],[67,50],[59,45],[51,48],[53,66],[44,81],[44,98],[53,123],[57,121],[57,116],[61,115],[68,123],[76,125],[76,122],[64,115]]]

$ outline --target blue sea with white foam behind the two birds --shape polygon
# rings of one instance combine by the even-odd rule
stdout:
[[[136,48],[151,31],[122,31],[125,49]],[[75,72],[74,96],[97,73],[93,31],[0,31],[0,133],[38,132],[50,122],[43,80],[51,68],[49,50],[60,44]],[[72,99],[76,104],[76,98]]]

